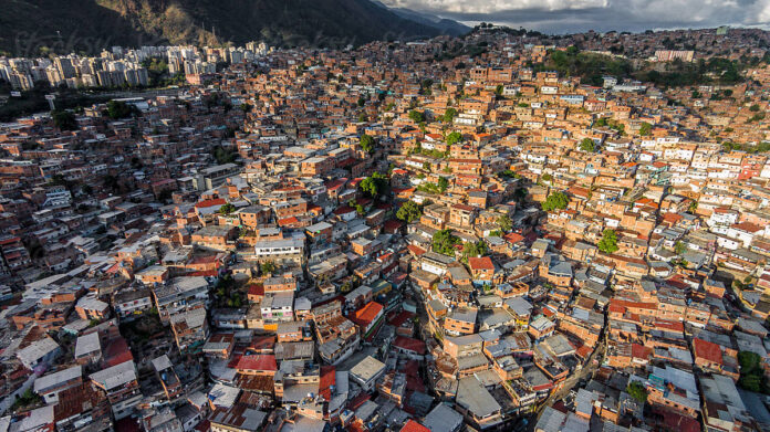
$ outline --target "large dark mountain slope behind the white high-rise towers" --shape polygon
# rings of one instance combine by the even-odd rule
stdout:
[[[0,0],[0,51],[98,53],[111,45],[345,46],[440,34],[370,0]]]

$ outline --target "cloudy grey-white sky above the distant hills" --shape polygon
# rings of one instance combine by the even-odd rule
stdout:
[[[493,22],[548,33],[698,29],[722,24],[770,29],[770,0],[382,0],[466,24]]]

